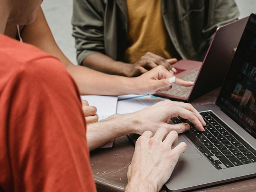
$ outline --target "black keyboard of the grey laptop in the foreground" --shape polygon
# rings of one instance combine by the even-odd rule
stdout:
[[[206,126],[205,131],[197,128],[187,119],[172,117],[174,123],[189,123],[186,136],[197,146],[216,169],[230,168],[256,162],[256,151],[231,130],[212,111],[200,113]]]

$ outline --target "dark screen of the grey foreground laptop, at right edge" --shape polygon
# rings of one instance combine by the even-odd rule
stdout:
[[[218,78],[218,77],[216,77]],[[256,15],[251,14],[216,104],[256,136]]]

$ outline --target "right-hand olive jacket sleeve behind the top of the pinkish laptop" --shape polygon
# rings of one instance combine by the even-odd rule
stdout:
[[[210,37],[210,43],[217,27],[237,20],[240,12],[234,0],[208,0],[208,2],[208,19],[203,34]]]

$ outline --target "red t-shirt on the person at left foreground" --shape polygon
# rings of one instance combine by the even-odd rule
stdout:
[[[0,35],[0,188],[96,192],[79,91],[55,57]]]

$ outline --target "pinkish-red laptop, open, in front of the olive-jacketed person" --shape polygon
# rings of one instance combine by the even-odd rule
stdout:
[[[195,82],[193,87],[173,85],[169,91],[157,92],[155,95],[189,102],[219,87],[224,81],[247,20],[248,17],[218,27],[203,63],[183,59],[174,64],[178,72],[176,76]]]

